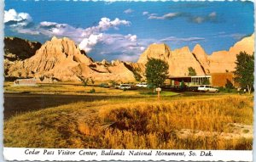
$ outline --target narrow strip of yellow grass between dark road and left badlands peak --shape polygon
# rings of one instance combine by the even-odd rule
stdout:
[[[94,89],[95,92],[91,92]],[[155,96],[156,92],[148,88],[138,88],[137,90],[119,90],[115,88],[104,88],[98,85],[89,85],[84,87],[83,84],[76,83],[54,83],[38,84],[38,87],[15,87],[13,82],[4,82],[4,92],[17,92],[17,93],[34,93],[34,94],[73,94],[73,95],[108,95],[108,96]],[[161,92],[163,96],[174,96],[177,92]]]

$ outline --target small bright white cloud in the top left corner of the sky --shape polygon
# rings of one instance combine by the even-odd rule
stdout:
[[[27,13],[17,13],[15,9],[4,11],[3,22],[12,22],[12,26],[26,26],[32,21],[32,17]]]

